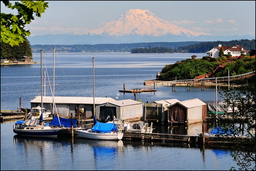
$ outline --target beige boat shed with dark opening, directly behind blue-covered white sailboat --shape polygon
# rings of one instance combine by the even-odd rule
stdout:
[[[96,106],[97,119],[105,119],[108,115],[111,121],[113,120],[113,115],[116,119],[140,120],[143,116],[143,103],[132,99],[124,99],[109,101]]]

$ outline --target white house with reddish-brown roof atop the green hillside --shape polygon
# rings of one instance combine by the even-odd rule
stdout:
[[[234,45],[234,46],[222,46],[221,44],[218,45],[218,47],[214,47],[211,50],[209,50],[208,52],[206,52],[206,56],[210,56],[212,58],[218,58],[219,56],[219,52],[220,52],[220,48],[222,47],[224,54],[227,55],[232,55],[232,56],[240,56],[241,54],[245,54],[246,56],[248,56],[248,52],[249,50],[245,50],[242,46],[239,45]]]

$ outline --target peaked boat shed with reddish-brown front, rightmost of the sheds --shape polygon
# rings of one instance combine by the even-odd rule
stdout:
[[[190,99],[185,101],[178,101],[168,107],[168,115],[170,124],[192,124],[199,123],[206,120],[207,105],[200,99]]]

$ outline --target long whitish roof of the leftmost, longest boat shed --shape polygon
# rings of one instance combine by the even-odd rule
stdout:
[[[94,97],[95,104],[116,101],[110,97]],[[41,96],[36,96],[30,103],[41,103]],[[43,96],[43,103],[52,103],[52,96]],[[93,97],[60,97],[54,96],[54,103],[59,104],[93,104]]]

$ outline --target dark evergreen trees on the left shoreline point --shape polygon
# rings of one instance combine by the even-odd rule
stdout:
[[[1,43],[1,59],[20,61],[24,58],[33,59],[30,42],[27,38],[25,38],[25,41],[20,43],[19,46],[11,46],[7,43]]]

